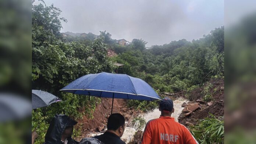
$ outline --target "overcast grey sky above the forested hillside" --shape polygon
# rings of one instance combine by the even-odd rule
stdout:
[[[199,39],[224,25],[224,0],[44,0],[62,10],[61,32],[106,30],[112,39],[151,45]],[[36,4],[36,3],[35,3]]]

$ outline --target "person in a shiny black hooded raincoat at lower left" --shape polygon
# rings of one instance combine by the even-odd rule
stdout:
[[[67,115],[56,114],[51,120],[44,144],[78,144],[77,141],[71,138],[73,126],[76,124],[77,122]],[[64,141],[61,141],[62,137],[65,137]]]

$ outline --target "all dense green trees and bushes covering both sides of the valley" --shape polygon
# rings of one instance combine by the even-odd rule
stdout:
[[[115,62],[124,64],[118,73],[141,78],[157,92],[190,91],[210,78],[223,77],[224,27],[192,42],[182,39],[146,48],[144,40],[133,39],[131,44],[120,46],[106,31],[100,31],[100,36],[88,33],[86,37],[63,37],[61,21],[67,20],[59,18],[60,12],[43,1],[32,6],[32,89],[48,91],[63,100],[32,111],[32,129],[39,133],[37,144],[43,143],[54,114],[67,114],[76,120],[83,115],[92,118],[99,98],[88,101],[87,96],[59,90],[89,73],[114,72]],[[107,57],[108,48],[118,55]],[[148,111],[157,107],[157,102],[130,100],[128,105]],[[80,132],[76,130],[75,135]]]

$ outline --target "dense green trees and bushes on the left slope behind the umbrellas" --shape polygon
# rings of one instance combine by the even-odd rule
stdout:
[[[115,66],[106,57],[104,39],[96,39],[89,46],[79,42],[64,42],[60,34],[60,10],[53,5],[32,6],[32,89],[48,91],[63,101],[32,111],[32,129],[39,133],[37,144],[43,143],[49,121],[55,114],[66,114],[74,119],[83,115],[92,118],[99,98],[70,93],[60,89],[88,73],[113,72]],[[80,110],[80,111],[79,111]],[[83,111],[84,113],[82,113]],[[76,130],[75,135],[79,135]]]

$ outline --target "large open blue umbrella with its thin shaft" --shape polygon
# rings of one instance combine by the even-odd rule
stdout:
[[[160,100],[160,97],[145,81],[125,74],[97,73],[82,76],[63,87],[61,91],[96,97],[128,100]]]

